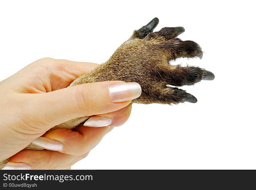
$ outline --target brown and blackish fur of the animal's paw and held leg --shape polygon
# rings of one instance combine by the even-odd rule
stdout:
[[[156,26],[158,19],[155,18],[152,21],[156,22],[154,23]],[[152,32],[155,26],[149,26],[149,24],[135,30],[106,63],[99,65],[91,73],[78,77],[70,86],[109,80],[137,82],[141,85],[142,94],[132,103],[177,104],[184,102],[188,93],[166,85],[192,85],[206,75],[205,70],[190,66],[171,66],[168,61],[179,57],[196,57],[202,55],[202,50],[193,41],[182,41],[176,38],[184,32],[182,27],[166,27],[158,32]],[[54,126],[51,130],[74,129],[88,118],[87,116],[76,118]],[[42,150],[42,148],[30,144],[24,150]],[[7,161],[2,161],[0,168],[3,168]]]

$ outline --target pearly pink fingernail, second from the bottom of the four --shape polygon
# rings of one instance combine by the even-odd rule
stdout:
[[[36,140],[32,142],[32,144],[35,144],[36,146],[40,146],[42,148],[45,148],[47,150],[51,151],[62,151],[63,150],[63,143],[51,140],[47,137],[38,137]]]

